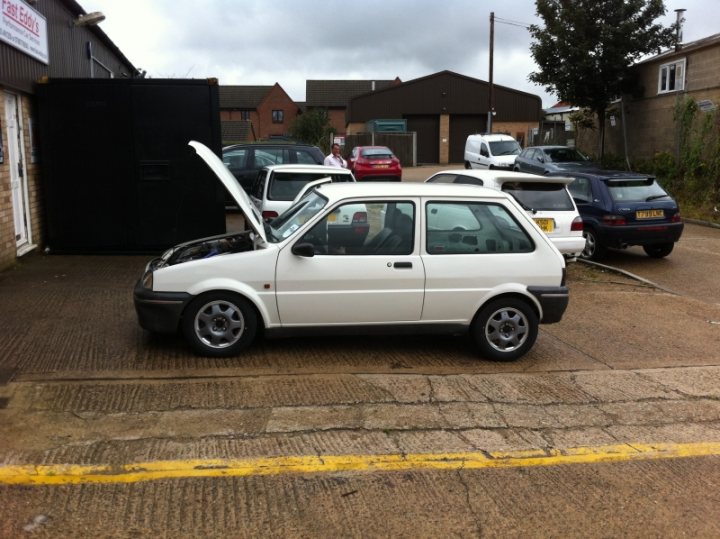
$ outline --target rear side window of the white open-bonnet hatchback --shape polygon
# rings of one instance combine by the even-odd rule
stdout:
[[[534,249],[525,229],[499,204],[429,202],[427,245],[431,255],[524,253]]]

